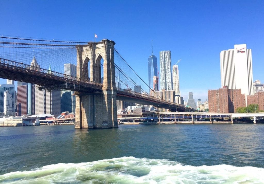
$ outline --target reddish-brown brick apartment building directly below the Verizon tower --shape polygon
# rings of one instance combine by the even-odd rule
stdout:
[[[246,107],[246,97],[241,94],[241,89],[208,90],[208,98],[209,112],[235,112],[238,107]]]

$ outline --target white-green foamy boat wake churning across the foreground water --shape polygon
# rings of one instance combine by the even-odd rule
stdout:
[[[264,183],[256,167],[183,166],[165,159],[113,158],[0,175],[1,183]]]

